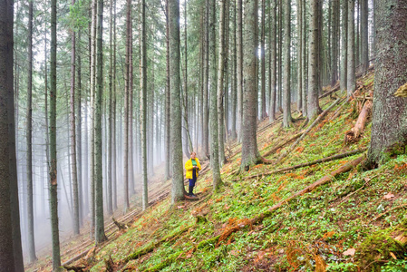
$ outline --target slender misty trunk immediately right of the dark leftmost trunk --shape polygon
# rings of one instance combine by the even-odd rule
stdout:
[[[34,192],[33,192],[33,1],[28,3],[28,73],[27,73],[27,225],[28,225],[28,261],[33,263],[34,242]]]

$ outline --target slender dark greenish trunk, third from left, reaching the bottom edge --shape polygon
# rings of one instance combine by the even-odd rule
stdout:
[[[56,163],[56,0],[51,1],[51,86],[50,86],[50,213],[53,237],[53,271],[61,267],[58,226],[58,183]]]

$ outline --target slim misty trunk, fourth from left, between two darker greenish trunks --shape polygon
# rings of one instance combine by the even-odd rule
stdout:
[[[75,0],[72,1],[75,5]],[[75,33],[71,31],[71,111],[70,111],[70,130],[71,130],[71,172],[73,184],[73,234],[79,235],[79,193],[78,193],[78,175],[76,172],[76,133],[75,133]]]

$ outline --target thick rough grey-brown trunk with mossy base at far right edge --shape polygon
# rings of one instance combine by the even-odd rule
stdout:
[[[376,3],[376,61],[374,77],[371,166],[383,164],[405,151],[407,104],[393,93],[407,82],[407,3],[378,0]],[[380,31],[378,31],[380,30]],[[394,63],[397,63],[396,65]]]

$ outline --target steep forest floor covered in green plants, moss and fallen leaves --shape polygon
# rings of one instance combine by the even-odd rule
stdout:
[[[369,145],[369,120],[358,139],[344,141],[369,101],[373,73],[357,85],[354,100],[339,102],[292,149],[295,136],[313,121],[305,123],[295,112],[290,129],[282,129],[281,121],[259,123],[258,149],[269,153],[266,159],[273,164],[237,176],[241,145],[228,145],[228,163],[221,170],[225,186],[214,192],[206,171],[199,177],[198,201],[171,206],[170,181],[156,184],[160,200],[143,213],[135,209],[127,217],[130,228],[112,227],[108,242],[69,266],[83,271],[407,271],[407,155],[376,170],[358,165],[333,174],[363,156]],[[322,109],[342,96],[336,92],[321,99]],[[356,150],[342,159],[276,172]],[[328,182],[290,198],[321,178]],[[276,204],[278,209],[270,209]],[[64,261],[92,245],[74,247],[65,251]],[[47,271],[49,260],[28,270]]]

